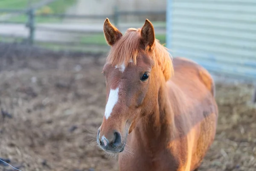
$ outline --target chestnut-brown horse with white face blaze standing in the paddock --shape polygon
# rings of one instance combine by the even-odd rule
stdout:
[[[98,144],[119,153],[120,171],[195,171],[215,137],[211,75],[185,58],[172,60],[149,20],[122,35],[107,18],[104,34],[111,50]]]

